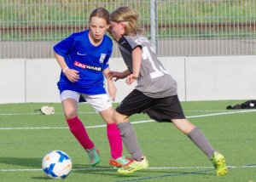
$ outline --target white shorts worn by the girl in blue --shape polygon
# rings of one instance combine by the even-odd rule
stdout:
[[[112,106],[112,102],[108,97],[108,94],[88,95],[80,94],[72,90],[64,90],[61,93],[61,101],[70,98],[73,100],[77,100],[77,102],[79,103],[80,95],[82,95],[82,97],[84,97],[84,100],[86,100],[98,112],[107,110],[109,107]]]

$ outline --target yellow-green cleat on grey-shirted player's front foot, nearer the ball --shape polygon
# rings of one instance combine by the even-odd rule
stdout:
[[[128,174],[145,168],[148,168],[148,160],[144,156],[143,161],[138,162],[136,160],[132,160],[131,162],[127,163],[124,167],[119,168],[118,173]]]

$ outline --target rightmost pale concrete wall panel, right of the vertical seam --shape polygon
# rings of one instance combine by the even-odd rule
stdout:
[[[256,56],[190,57],[186,100],[255,100]]]

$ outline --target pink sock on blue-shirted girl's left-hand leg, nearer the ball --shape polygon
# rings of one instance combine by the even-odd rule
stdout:
[[[84,128],[83,122],[79,120],[79,117],[74,117],[72,119],[67,119],[67,124],[71,133],[79,140],[79,143],[84,147],[86,151],[92,149],[94,144],[89,138],[89,135]]]

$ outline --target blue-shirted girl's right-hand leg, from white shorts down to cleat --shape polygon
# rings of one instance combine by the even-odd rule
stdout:
[[[87,95],[83,94],[85,100],[100,113],[102,119],[107,124],[107,136],[110,146],[112,159],[109,165],[113,168],[119,168],[130,162],[129,159],[123,156],[123,143],[120,136],[119,128],[113,122],[113,107],[108,94]]]

